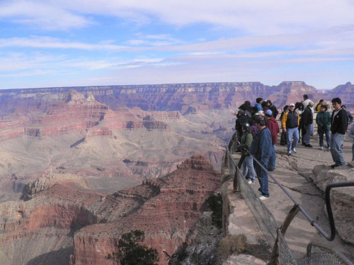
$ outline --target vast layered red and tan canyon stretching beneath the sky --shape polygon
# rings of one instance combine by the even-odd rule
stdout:
[[[1,263],[113,264],[120,235],[140,229],[167,264],[219,190],[239,105],[353,93],[301,81],[0,90]]]

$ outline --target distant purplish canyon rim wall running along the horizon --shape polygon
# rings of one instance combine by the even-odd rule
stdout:
[[[262,97],[271,99],[277,107],[282,108],[290,101],[301,101],[304,93],[307,93],[314,101],[321,98],[330,100],[333,94],[346,98],[347,92],[353,93],[352,86],[348,82],[326,94],[301,81],[286,81],[277,86],[268,86],[259,82],[240,82],[9,89],[0,90],[0,103],[4,106],[3,113],[12,113],[14,106],[23,111],[33,107],[46,110],[61,101],[74,105],[84,100],[90,102],[93,98],[111,109],[139,107],[150,111],[191,112],[193,109],[222,109],[239,106],[245,100],[254,102],[255,98]],[[348,91],[345,92],[343,88]],[[82,93],[86,99],[73,93],[72,89]],[[350,108],[354,108],[350,102],[347,103]]]

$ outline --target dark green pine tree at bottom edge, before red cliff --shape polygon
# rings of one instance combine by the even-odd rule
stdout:
[[[145,234],[141,230],[122,234],[119,239],[119,252],[113,252],[107,258],[113,258],[119,261],[121,265],[156,265],[155,262],[159,261],[157,250],[139,244],[144,239]]]

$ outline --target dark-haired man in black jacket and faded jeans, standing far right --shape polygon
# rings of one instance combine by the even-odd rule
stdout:
[[[333,112],[331,116],[331,155],[334,165],[332,169],[345,165],[341,145],[345,139],[345,132],[348,127],[346,111],[340,108],[342,100],[339,97],[332,99]]]

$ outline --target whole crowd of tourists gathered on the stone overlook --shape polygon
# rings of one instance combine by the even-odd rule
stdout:
[[[285,105],[280,115],[279,128],[278,109],[271,100],[256,98],[252,107],[250,101],[245,101],[235,113],[237,151],[246,154],[242,164],[243,175],[249,184],[255,183],[257,175],[259,182],[259,198],[265,200],[270,197],[268,187],[268,172],[276,169],[276,143],[280,129],[282,134],[280,144],[287,146],[287,154],[296,153],[298,143],[304,147],[312,148],[311,136],[314,135],[314,112],[319,135],[319,148],[325,149],[324,136],[326,137],[326,149],[331,152],[334,164],[332,168],[345,165],[343,156],[343,141],[348,126],[353,122],[353,117],[342,105],[341,99],[336,97],[332,101],[333,112],[328,112],[327,102],[323,99],[314,107],[314,102],[303,95],[302,102]],[[353,138],[352,161],[354,161],[354,124],[349,131],[349,137]],[[250,154],[252,156],[250,156]],[[253,161],[253,157],[258,161]],[[267,169],[265,171],[264,169]]]

